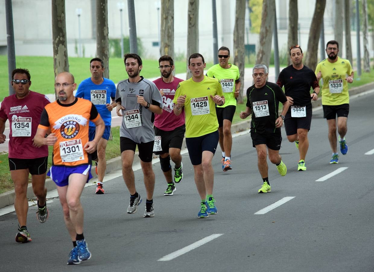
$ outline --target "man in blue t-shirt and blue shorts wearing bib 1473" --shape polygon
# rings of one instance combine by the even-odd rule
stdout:
[[[102,181],[104,179],[105,170],[107,169],[107,161],[105,160],[105,149],[110,135],[111,111],[117,105],[114,101],[116,97],[116,85],[110,79],[103,78],[104,62],[100,58],[93,58],[90,61],[91,78],[87,78],[80,82],[76,97],[87,99],[95,105],[98,113],[105,123],[104,134],[100,138],[96,151],[92,154],[92,160],[96,161],[96,174],[98,175],[98,184],[96,185],[96,194],[104,194]],[[111,102],[111,103],[110,103]],[[89,140],[95,137],[95,124],[90,121],[89,124]]]

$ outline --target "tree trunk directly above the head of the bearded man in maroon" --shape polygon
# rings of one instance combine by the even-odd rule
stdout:
[[[174,0],[161,0],[160,55],[174,59]]]

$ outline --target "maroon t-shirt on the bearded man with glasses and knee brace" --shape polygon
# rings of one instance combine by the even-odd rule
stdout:
[[[161,129],[164,131],[171,131],[177,127],[183,126],[186,115],[184,113],[184,107],[181,109],[181,114],[175,116],[173,112],[174,108],[174,95],[175,90],[177,90],[179,82],[183,81],[183,79],[174,77],[174,80],[170,83],[165,83],[162,78],[158,78],[153,81],[156,84],[157,88],[160,91],[163,91],[162,96],[162,114],[155,114],[154,115],[154,123],[153,125],[157,127],[157,129]]]

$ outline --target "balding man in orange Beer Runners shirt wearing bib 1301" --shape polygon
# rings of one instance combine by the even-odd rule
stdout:
[[[71,73],[62,72],[56,76],[58,100],[45,107],[34,138],[38,146],[53,145],[52,166],[47,175],[57,185],[65,225],[73,241],[68,265],[91,258],[83,236],[80,195],[92,178],[90,153],[95,151],[105,126],[91,102],[74,97],[76,87]],[[88,140],[89,120],[96,126],[92,141]]]

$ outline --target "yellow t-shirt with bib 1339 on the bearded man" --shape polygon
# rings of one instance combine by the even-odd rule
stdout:
[[[347,75],[353,72],[349,60],[337,57],[334,63],[327,58],[317,64],[315,74],[321,71],[324,85],[322,87],[322,105],[336,106],[349,104]]]

